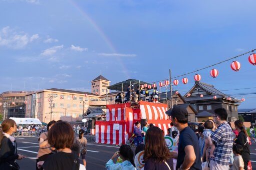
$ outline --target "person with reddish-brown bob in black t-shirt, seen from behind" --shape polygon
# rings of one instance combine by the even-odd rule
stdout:
[[[74,141],[72,127],[66,122],[57,122],[48,133],[48,143],[57,150],[47,160],[38,162],[44,170],[79,170],[79,158],[71,150]]]

